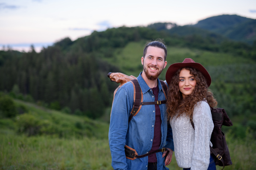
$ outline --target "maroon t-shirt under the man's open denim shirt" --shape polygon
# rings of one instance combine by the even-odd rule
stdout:
[[[151,88],[153,91],[153,94],[155,96],[155,101],[158,100],[158,86],[155,88]],[[160,145],[161,145],[161,138],[162,138],[162,133],[161,133],[161,112],[159,105],[155,105],[155,115],[156,115],[156,120],[154,124],[154,138],[153,138],[153,144],[151,147],[150,152],[154,152],[155,150],[158,150]],[[148,162],[157,162],[157,155],[154,153],[153,155],[148,156]]]

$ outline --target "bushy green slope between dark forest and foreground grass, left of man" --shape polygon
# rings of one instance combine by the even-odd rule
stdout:
[[[94,136],[99,139],[108,137],[108,124],[94,122],[87,117],[48,110],[19,100],[15,100],[15,107],[21,114],[8,121],[7,119],[0,119],[0,128],[14,129],[17,133],[26,134],[26,136],[47,135],[60,138]],[[83,114],[79,110],[77,112],[79,115]],[[9,123],[5,123],[6,121]]]

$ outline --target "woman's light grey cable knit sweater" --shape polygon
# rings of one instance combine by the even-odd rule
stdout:
[[[198,102],[193,111],[193,129],[187,116],[172,119],[173,141],[177,164],[191,170],[207,170],[210,158],[210,142],[213,122],[207,102]]]

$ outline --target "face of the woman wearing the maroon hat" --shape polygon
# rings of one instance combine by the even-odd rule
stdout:
[[[191,94],[195,88],[195,77],[192,74],[190,74],[189,70],[183,68],[180,71],[179,79],[179,89],[180,92],[182,93],[183,98],[185,98],[187,95]]]

